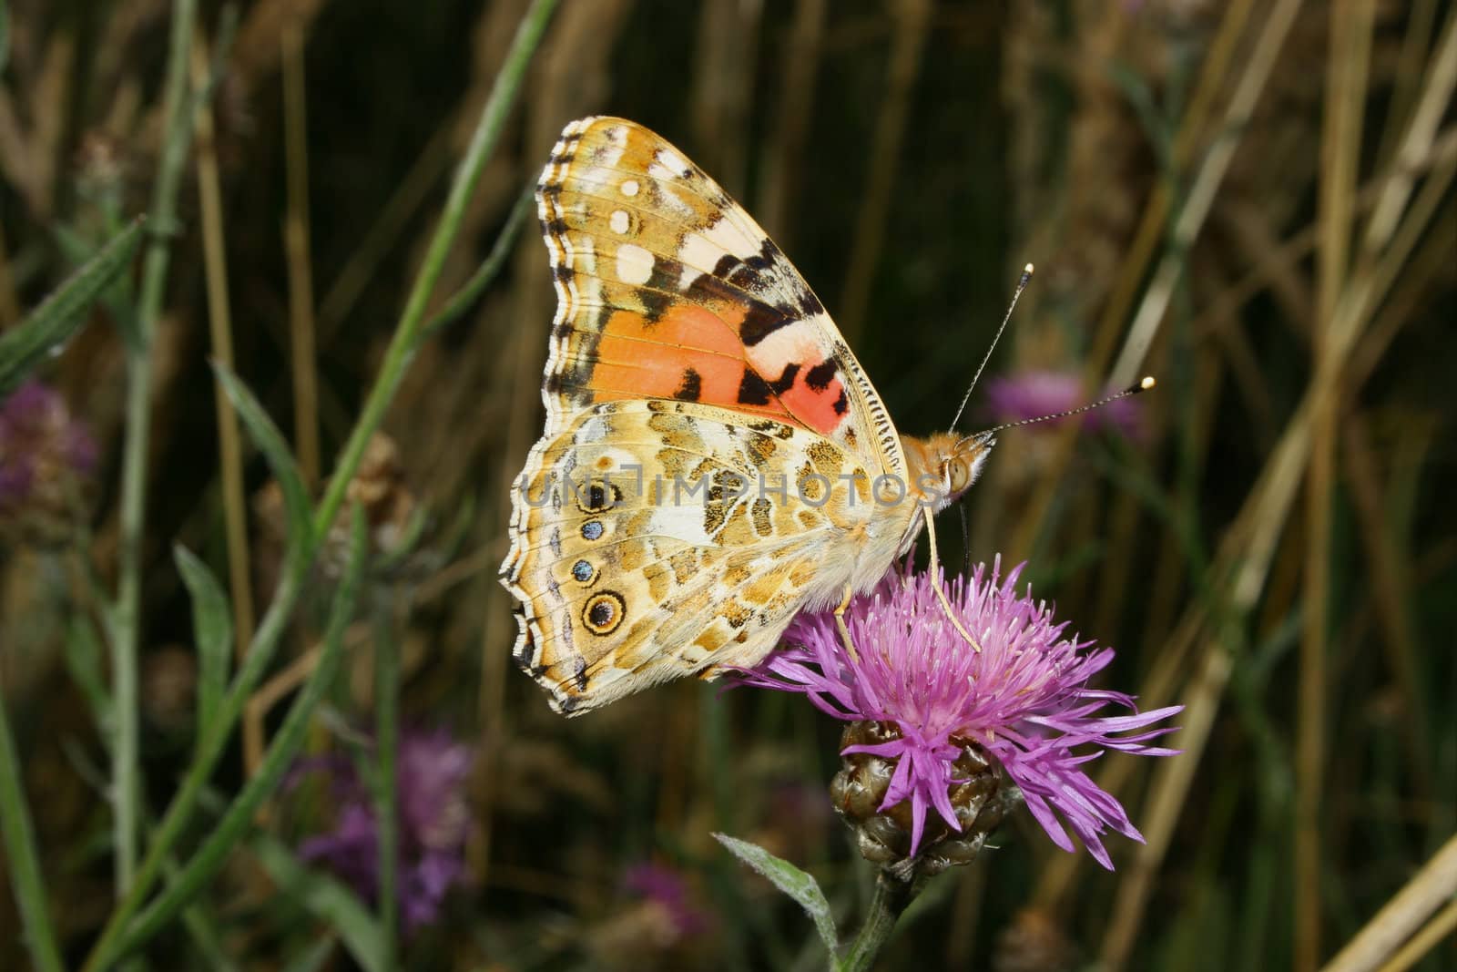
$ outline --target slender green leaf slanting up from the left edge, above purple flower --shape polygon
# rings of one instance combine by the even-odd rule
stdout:
[[[9,395],[48,354],[57,354],[86,324],[86,310],[131,262],[143,217],[102,246],[25,321],[0,335],[0,398]]]

